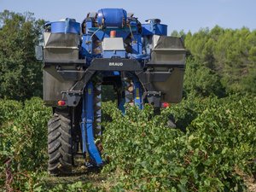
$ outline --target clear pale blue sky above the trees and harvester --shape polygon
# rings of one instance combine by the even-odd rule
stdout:
[[[159,18],[173,30],[197,32],[201,28],[222,26],[256,29],[256,0],[0,0],[4,9],[34,13],[37,19],[49,21],[74,18],[82,22],[88,12],[102,8],[123,8],[143,23]]]

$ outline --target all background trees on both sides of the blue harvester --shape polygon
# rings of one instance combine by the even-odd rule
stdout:
[[[34,47],[43,26],[32,13],[0,13],[0,98],[42,96],[42,63]],[[215,26],[172,36],[183,37],[188,50],[184,96],[256,94],[256,30]]]

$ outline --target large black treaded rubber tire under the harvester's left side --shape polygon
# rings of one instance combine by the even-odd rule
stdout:
[[[55,113],[48,122],[48,171],[50,175],[72,173],[72,127],[71,120]]]

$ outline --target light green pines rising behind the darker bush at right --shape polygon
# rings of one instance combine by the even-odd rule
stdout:
[[[189,32],[185,36],[185,46],[197,64],[218,74],[228,92],[256,94],[253,84],[256,77],[255,30],[205,28],[194,34]]]

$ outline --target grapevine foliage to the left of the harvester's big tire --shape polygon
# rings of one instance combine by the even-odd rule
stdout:
[[[36,97],[24,104],[4,100],[0,103],[0,185],[32,189],[38,180],[37,172],[46,169],[50,108]]]

